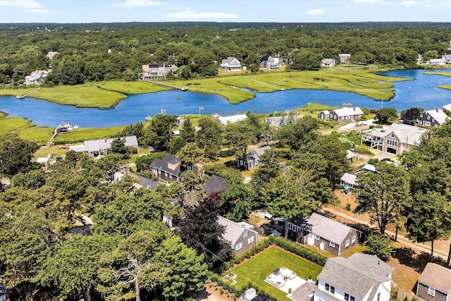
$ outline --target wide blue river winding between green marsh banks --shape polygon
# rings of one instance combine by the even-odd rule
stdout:
[[[451,70],[440,70],[451,72]],[[435,109],[451,103],[451,91],[439,89],[437,85],[451,85],[451,78],[440,75],[424,75],[424,70],[394,70],[383,75],[413,78],[404,82],[395,82],[395,98],[384,102],[384,107],[394,107],[398,112],[412,106]],[[198,114],[203,106],[202,115],[219,113],[222,116],[252,111],[253,113],[272,113],[297,109],[308,102],[329,106],[342,106],[352,103],[369,109],[381,107],[380,101],[369,97],[330,90],[289,90],[271,93],[256,93],[257,97],[241,104],[229,104],[226,99],[215,94],[163,91],[149,94],[131,95],[115,109],[79,109],[75,106],[63,106],[39,99],[27,97],[0,97],[0,111],[11,116],[29,118],[35,125],[56,126],[61,121],[77,124],[80,128],[106,128],[116,125],[128,125],[144,121],[144,116],[160,113],[165,109],[168,114]],[[179,99],[181,98],[181,99]],[[175,100],[179,99],[179,100]]]

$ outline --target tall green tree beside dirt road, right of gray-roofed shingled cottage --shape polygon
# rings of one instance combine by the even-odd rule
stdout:
[[[388,223],[395,221],[397,214],[409,203],[409,179],[404,168],[380,161],[376,173],[357,175],[357,213],[368,213],[371,221],[378,223],[381,234],[385,234]]]

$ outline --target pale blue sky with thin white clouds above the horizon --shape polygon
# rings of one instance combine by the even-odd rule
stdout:
[[[0,0],[0,23],[451,22],[451,0]]]

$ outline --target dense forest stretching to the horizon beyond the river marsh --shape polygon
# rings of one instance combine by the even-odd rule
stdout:
[[[142,64],[177,65],[180,78],[218,74],[235,56],[249,66],[280,57],[293,70],[319,67],[323,58],[390,68],[416,68],[418,54],[447,53],[446,23],[109,23],[0,26],[0,82],[20,84],[33,70],[54,70],[46,85],[137,80]],[[54,59],[49,51],[57,51]],[[288,69],[290,69],[288,68]]]

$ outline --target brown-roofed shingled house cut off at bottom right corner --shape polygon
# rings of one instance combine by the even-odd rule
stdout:
[[[431,262],[426,264],[416,285],[416,295],[428,301],[450,301],[451,269]]]

